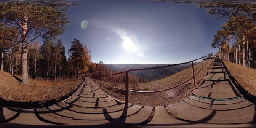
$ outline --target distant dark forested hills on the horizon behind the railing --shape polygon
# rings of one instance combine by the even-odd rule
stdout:
[[[197,63],[195,63],[197,64]],[[126,71],[129,69],[141,69],[149,67],[160,67],[169,64],[104,64],[108,69],[112,69],[116,72]],[[131,71],[129,73],[141,77],[145,80],[156,80],[162,77],[173,75],[176,72],[180,72],[184,69],[191,67],[191,64],[182,64],[173,67],[166,67],[160,69],[142,70],[142,71]]]

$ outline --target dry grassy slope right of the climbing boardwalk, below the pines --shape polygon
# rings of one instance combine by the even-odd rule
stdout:
[[[249,93],[256,96],[256,70],[224,61],[227,69],[237,82]]]

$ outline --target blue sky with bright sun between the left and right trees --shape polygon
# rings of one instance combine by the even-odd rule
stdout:
[[[91,49],[91,61],[106,64],[174,64],[215,53],[213,35],[224,24],[189,3],[76,3],[60,37],[66,54],[77,38]]]

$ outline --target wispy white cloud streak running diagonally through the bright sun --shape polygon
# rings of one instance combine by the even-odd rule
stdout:
[[[128,32],[124,29],[99,20],[93,20],[92,24],[116,33],[123,40],[122,46],[125,50],[137,54],[138,57],[145,57],[144,52],[141,50],[141,48],[138,47],[139,44],[137,43],[137,41],[135,39],[132,39],[131,36],[128,35]]]

